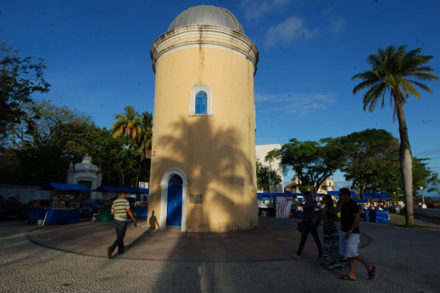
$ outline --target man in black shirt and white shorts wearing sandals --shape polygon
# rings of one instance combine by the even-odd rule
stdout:
[[[348,275],[340,277],[341,280],[356,280],[354,273],[354,260],[358,260],[365,265],[368,271],[368,279],[373,279],[375,275],[374,265],[370,265],[361,255],[358,254],[358,245],[361,240],[359,234],[359,214],[358,204],[350,198],[348,188],[339,189],[339,203],[336,206],[337,211],[341,211],[341,236],[339,238],[339,253],[348,260],[350,272]]]

